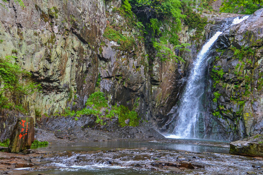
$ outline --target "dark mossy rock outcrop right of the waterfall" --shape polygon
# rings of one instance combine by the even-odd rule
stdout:
[[[217,41],[210,66],[207,135],[237,140],[263,132],[263,9]]]

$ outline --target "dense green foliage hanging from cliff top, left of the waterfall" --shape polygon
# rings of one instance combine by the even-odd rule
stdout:
[[[167,59],[182,60],[174,53],[178,42],[178,31],[181,20],[185,17],[181,11],[180,0],[124,0],[122,3],[126,13],[134,13],[150,36],[150,45],[157,51],[162,61]],[[172,44],[168,47],[169,44]],[[180,45],[180,48],[185,48]]]

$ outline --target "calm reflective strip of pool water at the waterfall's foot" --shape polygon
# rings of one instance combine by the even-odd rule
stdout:
[[[184,140],[185,141],[185,140]],[[191,141],[191,140],[190,140]],[[189,141],[189,142],[190,142]],[[97,151],[110,150],[117,148],[145,148],[145,149],[160,149],[160,150],[183,150],[191,152],[210,152],[210,153],[228,153],[229,148],[215,145],[203,145],[202,142],[194,143],[174,143],[162,141],[90,141],[79,143],[64,143],[64,144],[50,144],[46,148],[38,148],[40,150],[48,151]]]

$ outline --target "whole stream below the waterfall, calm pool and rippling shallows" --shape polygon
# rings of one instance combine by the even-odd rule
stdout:
[[[261,158],[228,154],[228,142],[108,140],[50,144],[28,175],[263,174]],[[25,169],[23,169],[25,170]]]

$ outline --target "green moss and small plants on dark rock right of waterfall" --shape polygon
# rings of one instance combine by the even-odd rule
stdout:
[[[251,94],[253,89],[260,89],[261,87],[260,81],[262,78],[260,77],[262,77],[263,73],[256,75],[258,73],[256,71],[258,69],[257,64],[260,58],[255,56],[255,49],[257,48],[254,48],[253,46],[230,48],[230,50],[227,50],[228,55],[233,55],[232,60],[238,62],[234,67],[234,70],[228,69],[224,72],[221,66],[214,66],[210,72],[210,75],[213,78],[213,88],[220,89],[221,86],[226,88],[226,92],[230,93],[230,104],[235,104],[236,106],[233,108],[218,104],[218,108],[213,111],[213,115],[218,117],[221,114],[226,117],[233,117],[233,120],[235,121],[234,125],[238,125],[237,123],[239,120],[251,115],[244,111],[245,102],[252,99]],[[222,57],[219,57],[218,60],[214,60],[214,64],[216,65],[221,58]],[[224,70],[225,68],[227,67],[224,67]],[[257,80],[253,77],[259,78]],[[219,92],[214,92],[214,96],[215,98],[213,99],[213,102],[217,103],[217,99],[220,96]],[[228,94],[226,96],[228,96]],[[253,101],[251,104],[253,104]],[[230,128],[234,130],[236,127],[231,126]]]

